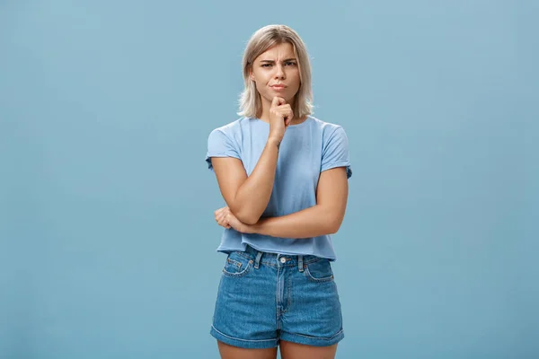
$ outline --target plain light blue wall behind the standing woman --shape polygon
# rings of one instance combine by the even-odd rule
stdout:
[[[0,357],[218,357],[204,155],[270,23],[349,136],[337,357],[539,357],[539,5],[436,3],[0,3]]]

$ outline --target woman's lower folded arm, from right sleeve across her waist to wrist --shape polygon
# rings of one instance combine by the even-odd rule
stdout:
[[[344,219],[348,190],[344,167],[323,171],[316,188],[315,206],[291,215],[261,218],[258,223],[242,229],[281,238],[310,238],[335,233]]]

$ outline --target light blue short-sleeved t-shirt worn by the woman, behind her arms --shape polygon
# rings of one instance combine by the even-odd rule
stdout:
[[[270,124],[258,118],[239,118],[214,129],[208,136],[208,168],[213,171],[210,157],[234,157],[242,160],[247,175],[251,175],[269,135]],[[320,172],[335,167],[346,167],[347,177],[351,177],[348,138],[342,127],[313,116],[287,127],[279,147],[270,202],[262,216],[290,215],[316,205]],[[243,251],[247,244],[265,252],[336,259],[331,235],[277,238],[234,228],[224,230],[217,251]]]

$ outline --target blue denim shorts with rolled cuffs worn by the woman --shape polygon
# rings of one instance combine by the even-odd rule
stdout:
[[[261,252],[228,254],[210,334],[231,346],[270,348],[280,339],[331,346],[344,333],[327,258]]]

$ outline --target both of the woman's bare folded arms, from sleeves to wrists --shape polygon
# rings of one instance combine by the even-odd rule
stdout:
[[[316,188],[316,205],[290,215],[262,217],[275,179],[278,142],[269,140],[251,176],[233,157],[212,157],[217,183],[231,216],[229,223],[239,232],[281,238],[310,238],[339,231],[344,218],[348,179],[346,168],[323,171]]]

